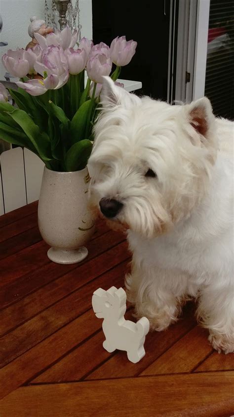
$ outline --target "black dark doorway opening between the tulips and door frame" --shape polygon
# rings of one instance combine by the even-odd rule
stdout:
[[[120,78],[142,81],[136,92],[167,100],[170,0],[93,0],[93,41],[110,46],[117,36],[137,41]]]

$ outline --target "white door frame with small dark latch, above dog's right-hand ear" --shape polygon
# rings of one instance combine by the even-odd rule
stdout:
[[[175,101],[204,96],[210,0],[179,0]]]

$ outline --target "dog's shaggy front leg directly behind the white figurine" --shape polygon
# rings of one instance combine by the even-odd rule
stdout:
[[[147,317],[151,330],[161,331],[177,320],[185,299],[187,276],[172,271],[132,264],[126,275],[127,299],[137,318]]]

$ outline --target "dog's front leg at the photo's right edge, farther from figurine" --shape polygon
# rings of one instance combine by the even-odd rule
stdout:
[[[234,352],[234,283],[214,279],[200,292],[198,317],[209,329],[209,341],[218,352]]]

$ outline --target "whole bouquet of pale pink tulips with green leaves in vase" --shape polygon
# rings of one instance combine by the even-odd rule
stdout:
[[[72,34],[69,27],[35,38],[33,49],[9,50],[2,57],[6,70],[20,81],[17,90],[9,89],[16,105],[0,84],[0,138],[28,148],[51,170],[83,169],[92,150],[102,76],[111,74],[116,81],[137,43],[124,36],[110,48],[86,38],[78,43],[78,32]]]

